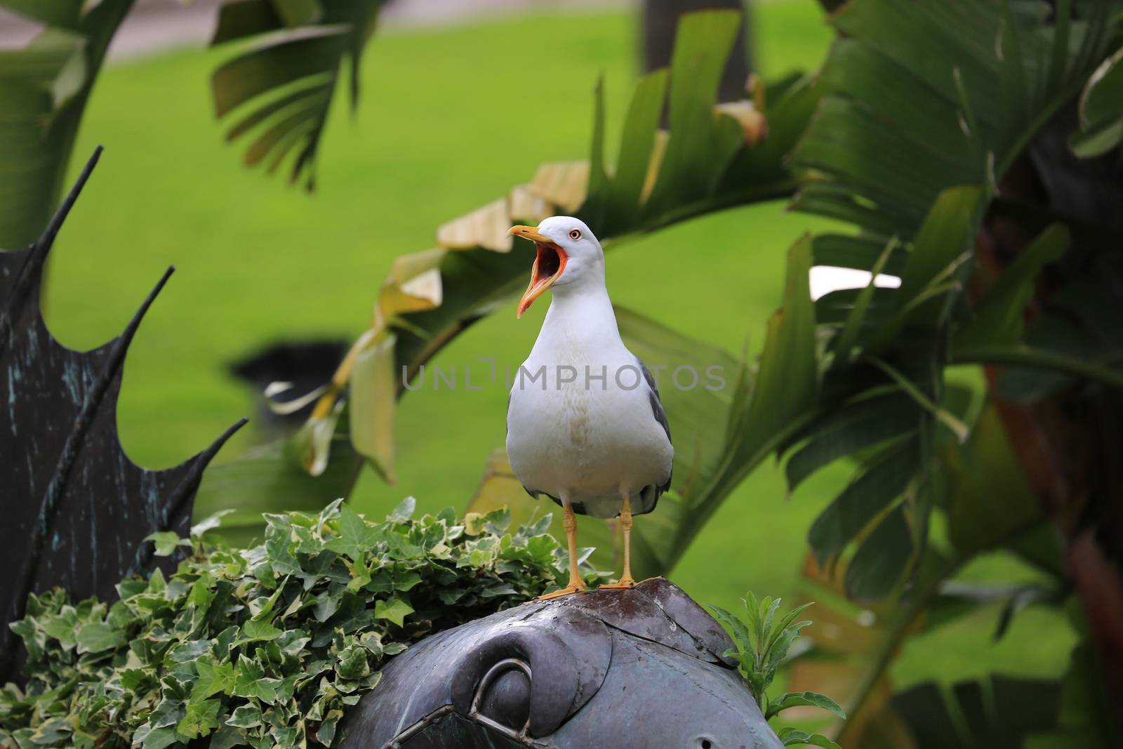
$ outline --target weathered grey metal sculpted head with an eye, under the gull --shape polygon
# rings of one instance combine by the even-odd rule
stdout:
[[[661,578],[502,611],[394,658],[340,746],[779,749],[731,647]]]

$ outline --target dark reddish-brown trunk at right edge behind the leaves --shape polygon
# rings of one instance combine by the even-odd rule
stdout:
[[[1046,216],[1028,230],[1024,216],[1007,221],[992,214],[979,237],[976,277],[986,285],[1053,220],[1050,214],[1066,220],[1074,228],[1072,246],[1042,273],[1028,329],[1032,335],[1033,321],[1050,316],[1103,351],[1115,345],[1112,339],[1123,326],[1097,320],[1105,316],[1088,314],[1095,308],[1075,305],[1072,299],[1123,294],[1115,239],[1123,234],[1123,168],[1113,155],[1074,156],[1068,134],[1075,127],[1074,103],[1003,177],[1004,200],[1044,207]],[[987,367],[987,380],[1019,462],[1063,539],[1067,572],[1080,594],[1105,686],[1116,715],[1123,715],[1123,398],[1102,385],[1072,383],[1043,398],[1014,401],[1003,398],[994,367]]]

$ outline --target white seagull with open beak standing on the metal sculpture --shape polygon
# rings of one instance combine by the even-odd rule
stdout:
[[[651,372],[620,339],[604,283],[604,250],[583,221],[554,216],[508,232],[535,243],[537,256],[518,317],[549,290],[550,308],[506,407],[506,454],[536,500],[562,505],[569,583],[542,599],[584,591],[577,569],[577,519],[620,517],[631,576],[632,515],[655,510],[670,487],[674,447]]]

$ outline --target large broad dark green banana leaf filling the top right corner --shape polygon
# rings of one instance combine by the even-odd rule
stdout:
[[[839,37],[820,74],[819,112],[793,153],[809,174],[793,207],[856,223],[884,246],[912,239],[944,190],[999,181],[1088,83],[1119,22],[1108,2],[1083,17],[1058,2],[1052,22],[1011,4],[856,0],[832,13]],[[1110,70],[1099,73],[1105,93]],[[1088,99],[1089,127],[1107,121],[1110,107],[1096,102],[1110,94]],[[876,257],[833,259],[868,271]]]

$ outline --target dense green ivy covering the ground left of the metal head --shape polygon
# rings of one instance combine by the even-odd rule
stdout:
[[[24,688],[0,689],[0,747],[331,747],[384,660],[432,632],[558,584],[551,515],[508,530],[505,510],[371,522],[341,500],[266,515],[262,545],[156,533],[174,574],[118,585],[120,600],[33,595],[12,624]],[[195,745],[192,745],[195,746]],[[203,745],[200,745],[203,746]]]

